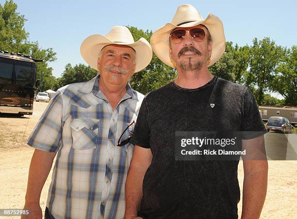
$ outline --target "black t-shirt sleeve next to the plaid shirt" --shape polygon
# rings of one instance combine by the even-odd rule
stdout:
[[[147,97],[142,101],[139,109],[136,125],[130,140],[143,148],[149,148],[149,125],[148,125],[148,103]]]

